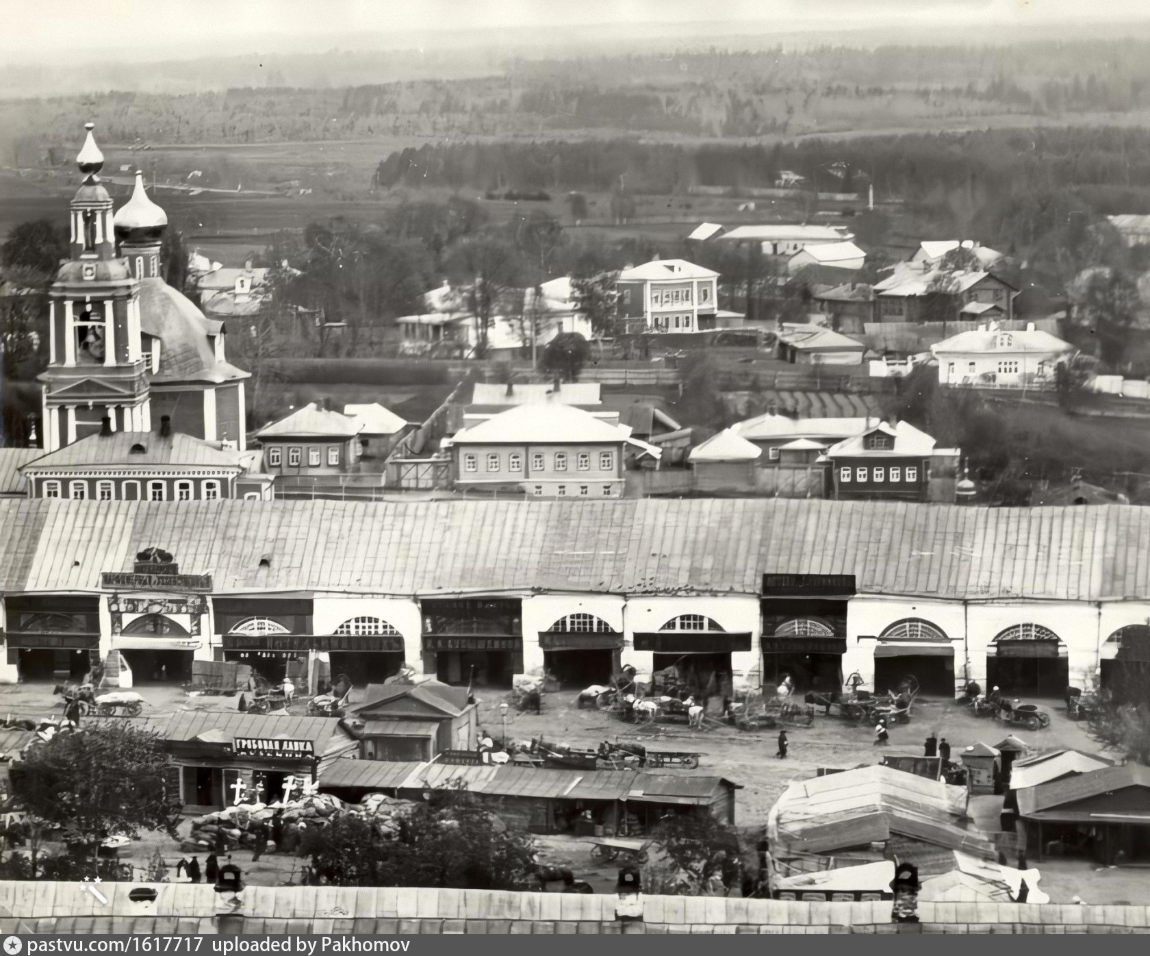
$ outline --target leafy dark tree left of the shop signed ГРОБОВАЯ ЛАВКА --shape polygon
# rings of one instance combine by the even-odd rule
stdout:
[[[163,829],[175,838],[182,805],[156,734],[109,720],[64,731],[25,752],[13,790],[17,805],[60,827],[82,858],[115,834]]]

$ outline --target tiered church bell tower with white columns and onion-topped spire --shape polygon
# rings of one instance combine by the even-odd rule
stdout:
[[[48,299],[49,359],[39,375],[44,448],[55,451],[100,430],[151,429],[140,353],[139,283],[116,255],[112,197],[100,182],[103,154],[92,123],[76,156],[84,176],[71,200],[70,258]]]

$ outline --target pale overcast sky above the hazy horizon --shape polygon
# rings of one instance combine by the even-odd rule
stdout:
[[[1021,25],[1150,17],[1147,0],[0,0],[0,59],[45,59],[62,49],[84,59],[140,61],[225,54],[412,46],[444,31],[642,23],[739,23],[762,32],[838,30],[883,23],[941,28]],[[726,24],[726,25],[724,25]],[[406,36],[405,36],[406,35]],[[954,37],[977,43],[976,33]]]

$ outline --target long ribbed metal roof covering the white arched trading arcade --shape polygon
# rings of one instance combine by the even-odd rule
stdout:
[[[171,551],[217,594],[757,595],[764,573],[971,601],[1150,597],[1150,507],[900,502],[0,500],[0,589],[95,591]],[[261,567],[261,558],[268,566]]]

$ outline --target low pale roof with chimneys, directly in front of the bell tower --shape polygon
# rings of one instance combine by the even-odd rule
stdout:
[[[143,451],[132,451],[140,446]],[[246,452],[221,449],[212,442],[172,431],[113,431],[110,435],[89,435],[62,449],[40,454],[22,471],[48,472],[61,467],[133,465],[209,465],[220,468],[241,468]]]

